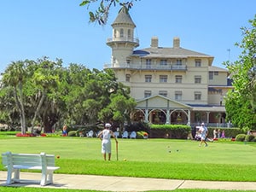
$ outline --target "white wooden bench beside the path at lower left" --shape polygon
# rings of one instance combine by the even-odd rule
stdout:
[[[53,172],[59,169],[55,166],[54,154],[2,154],[3,166],[7,168],[7,184],[20,183],[20,169],[41,170],[40,185],[53,183]],[[14,173],[14,175],[13,175]]]

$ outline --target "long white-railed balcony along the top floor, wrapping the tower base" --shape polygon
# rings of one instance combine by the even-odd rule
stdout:
[[[158,71],[186,71],[186,65],[160,65],[160,64],[139,64],[139,63],[125,63],[125,64],[105,64],[104,68],[127,68],[134,70],[158,70]]]

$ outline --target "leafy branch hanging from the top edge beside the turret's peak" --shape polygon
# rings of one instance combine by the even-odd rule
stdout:
[[[80,6],[87,6],[87,9],[90,9],[92,3],[98,3],[94,12],[89,11],[90,22],[98,22],[99,25],[103,26],[108,21],[108,13],[112,6],[116,6],[119,3],[120,6],[125,6],[129,10],[134,1],[137,0],[130,0],[124,3],[119,3],[119,0],[85,0],[80,3]]]

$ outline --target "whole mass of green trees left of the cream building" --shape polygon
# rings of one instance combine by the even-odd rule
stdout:
[[[54,125],[58,129],[64,124],[96,125],[99,120],[121,125],[130,121],[136,102],[113,70],[61,63],[47,57],[11,63],[0,87],[0,121],[20,123],[23,133],[35,122],[51,132]]]

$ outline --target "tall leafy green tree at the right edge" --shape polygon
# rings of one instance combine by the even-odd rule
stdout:
[[[227,119],[239,127],[256,127],[256,15],[250,27],[241,27],[243,39],[236,44],[242,50],[234,63],[224,64],[229,69],[234,90],[226,98]]]

